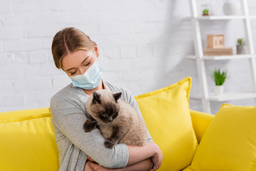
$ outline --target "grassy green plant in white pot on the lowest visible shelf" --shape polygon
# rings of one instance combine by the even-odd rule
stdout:
[[[214,92],[215,95],[221,95],[224,92],[224,82],[227,79],[227,70],[222,71],[221,69],[215,69],[214,72],[211,74],[211,78],[214,79]]]

